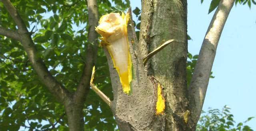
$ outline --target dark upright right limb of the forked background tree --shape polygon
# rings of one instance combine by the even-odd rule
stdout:
[[[88,45],[86,50],[86,60],[82,77],[78,84],[74,100],[79,104],[83,104],[87,94],[90,90],[90,77],[92,66],[96,64],[97,47],[98,47],[98,34],[95,31],[95,27],[98,25],[98,6],[97,0],[87,0],[88,6]]]

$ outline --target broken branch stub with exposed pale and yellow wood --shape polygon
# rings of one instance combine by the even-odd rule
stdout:
[[[102,16],[96,31],[102,36],[100,43],[105,47],[118,72],[123,92],[130,93],[132,81],[132,61],[128,45],[127,24],[129,14],[110,13]]]

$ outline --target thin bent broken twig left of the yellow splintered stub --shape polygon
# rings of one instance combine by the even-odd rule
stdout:
[[[103,92],[101,92],[94,84],[93,84],[93,78],[94,78],[94,72],[95,72],[95,66],[93,66],[92,68],[92,77],[90,80],[90,86],[92,87],[92,90],[94,90],[94,92],[100,96],[100,98],[106,102],[106,104],[108,104],[108,106],[111,105],[110,99],[108,98],[108,96],[106,96]]]

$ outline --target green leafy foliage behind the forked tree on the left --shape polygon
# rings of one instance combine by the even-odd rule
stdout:
[[[51,74],[70,92],[76,90],[86,58],[88,10],[86,0],[11,0],[29,31],[35,32],[38,55]],[[98,0],[100,16],[121,12],[129,0]],[[16,24],[0,2],[0,25],[16,30]],[[96,80],[98,88],[113,99],[104,51],[99,48]],[[93,99],[92,99],[93,98]],[[84,108],[85,129],[116,128],[108,106],[94,93],[88,94]],[[101,126],[96,126],[100,124]],[[0,35],[0,127],[67,131],[67,116],[33,70],[22,45]]]

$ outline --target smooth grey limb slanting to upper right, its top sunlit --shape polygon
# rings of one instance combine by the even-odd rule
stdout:
[[[206,32],[189,88],[192,119],[200,117],[220,35],[235,0],[221,0]]]

